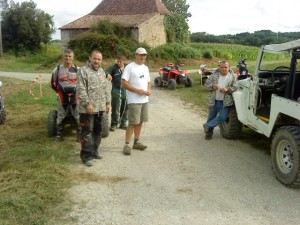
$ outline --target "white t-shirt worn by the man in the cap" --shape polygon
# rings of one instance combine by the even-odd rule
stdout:
[[[128,64],[122,74],[122,79],[128,81],[130,85],[135,88],[143,89],[147,91],[148,82],[150,82],[149,69],[144,64],[139,65],[135,62]],[[134,92],[126,90],[127,103],[146,103],[148,102],[148,96],[139,95]]]

